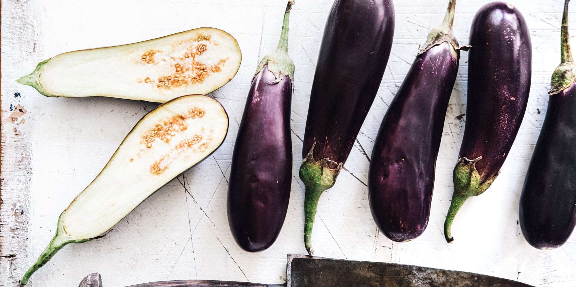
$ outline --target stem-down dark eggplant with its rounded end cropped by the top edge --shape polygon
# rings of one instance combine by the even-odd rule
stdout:
[[[378,92],[394,34],[392,0],[336,0],[324,36],[310,93],[300,179],[306,186],[304,243],[316,206],[336,178]]]

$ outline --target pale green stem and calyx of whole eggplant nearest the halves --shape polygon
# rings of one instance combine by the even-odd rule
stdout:
[[[290,24],[290,10],[294,1],[288,1],[286,6],[286,13],[284,14],[284,21],[282,23],[282,33],[280,35],[280,41],[278,43],[278,48],[274,54],[266,55],[260,61],[258,68],[256,69],[256,75],[264,69],[264,66],[268,65],[268,71],[276,77],[275,82],[279,82],[284,78],[285,75],[290,77],[290,80],[294,81],[294,63],[290,56],[288,55],[288,28]]]

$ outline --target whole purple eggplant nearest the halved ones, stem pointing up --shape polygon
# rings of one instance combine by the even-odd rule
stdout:
[[[265,56],[252,79],[234,144],[228,186],[228,222],[236,243],[262,251],[278,237],[292,178],[290,105],[294,63],[288,56],[288,2],[276,52]]]

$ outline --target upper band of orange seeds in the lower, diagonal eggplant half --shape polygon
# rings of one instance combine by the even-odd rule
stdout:
[[[146,148],[151,148],[152,142],[156,139],[160,139],[166,143],[170,142],[177,132],[188,129],[188,124],[185,120],[202,118],[204,114],[206,114],[206,112],[203,109],[196,107],[189,108],[184,114],[178,114],[161,123],[157,123],[156,126],[142,135],[142,139],[146,143]]]

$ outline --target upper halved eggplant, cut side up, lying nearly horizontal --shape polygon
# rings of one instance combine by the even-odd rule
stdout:
[[[213,92],[240,68],[232,35],[197,28],[122,46],[67,52],[17,80],[47,97],[118,97],[164,103]]]

